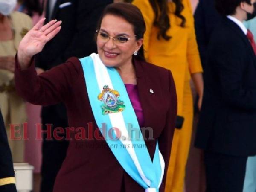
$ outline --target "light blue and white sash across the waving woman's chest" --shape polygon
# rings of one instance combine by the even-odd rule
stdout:
[[[119,73],[114,67],[106,67],[100,60],[99,55],[95,53],[81,58],[80,62],[83,67],[94,118],[99,128],[103,125],[106,126],[106,133],[103,133],[101,128],[100,131],[109,148],[123,169],[145,189],[145,192],[158,192],[164,174],[163,156],[159,151],[157,143],[153,162],[151,161],[140,131],[137,116]],[[125,105],[124,111],[102,115],[100,107],[102,101],[98,100],[98,95],[102,92],[105,85],[120,93],[120,99],[122,99]],[[133,136],[128,133],[129,124],[132,125],[133,130],[139,129],[136,131],[139,133],[138,138],[133,139]],[[119,134],[113,128],[118,128]]]

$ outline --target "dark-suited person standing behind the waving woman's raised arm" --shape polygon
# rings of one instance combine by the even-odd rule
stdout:
[[[112,0],[48,0],[45,22],[52,19],[62,20],[62,28],[58,35],[46,44],[42,52],[36,55],[35,64],[38,72],[64,63],[71,56],[82,58],[96,52],[96,24],[109,3],[112,3]],[[41,118],[44,130],[46,124],[52,124],[52,131],[56,127],[68,127],[66,109],[62,103],[43,107]],[[46,137],[44,134],[41,192],[52,192],[55,177],[66,156],[68,141],[58,141],[54,138],[46,140]]]

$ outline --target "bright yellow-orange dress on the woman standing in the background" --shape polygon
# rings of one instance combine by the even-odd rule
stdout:
[[[154,11],[148,0],[134,0],[142,12],[146,23],[143,46],[146,61],[171,70],[175,80],[178,115],[185,118],[182,129],[175,129],[169,161],[165,192],[183,192],[186,161],[192,134],[193,102],[190,87],[190,74],[201,73],[201,61],[195,38],[194,18],[189,0],[183,0],[181,13],[186,18],[185,27],[180,27],[181,19],[174,15],[175,3],[169,2],[171,28],[169,41],[157,39],[158,29],[153,26]],[[171,143],[170,143],[171,145]]]

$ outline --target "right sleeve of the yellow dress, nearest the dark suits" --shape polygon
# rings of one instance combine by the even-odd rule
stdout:
[[[186,4],[185,4],[186,3]],[[187,43],[187,60],[189,63],[190,73],[203,72],[201,60],[198,52],[198,45],[195,37],[194,18],[192,15],[192,7],[189,0],[184,2],[184,6],[189,8],[189,17],[186,18],[188,22],[188,43]]]

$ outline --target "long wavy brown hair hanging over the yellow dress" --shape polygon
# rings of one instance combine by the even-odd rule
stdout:
[[[182,0],[172,1],[176,6],[174,14],[182,20],[180,26],[185,27],[186,18],[181,15],[181,12],[184,9],[184,5],[181,2]],[[151,7],[155,13],[154,26],[159,29],[159,32],[157,33],[157,39],[162,37],[168,41],[170,38],[172,38],[166,34],[167,30],[171,28],[170,18],[168,16],[168,0],[149,0],[149,3],[151,4]]]

